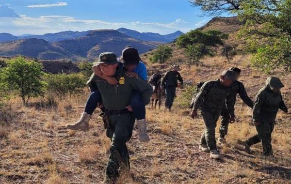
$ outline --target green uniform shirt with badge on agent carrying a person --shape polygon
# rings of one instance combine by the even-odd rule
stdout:
[[[129,105],[133,90],[139,91],[145,104],[149,104],[153,93],[149,84],[135,77],[127,77],[125,71],[120,69],[113,77],[118,81],[117,85],[111,85],[105,79],[94,74],[87,82],[90,88],[97,89],[101,93],[102,104],[106,109],[125,109]]]

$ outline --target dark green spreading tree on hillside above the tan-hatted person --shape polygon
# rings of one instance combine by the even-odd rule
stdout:
[[[217,30],[192,30],[179,36],[176,45],[185,48],[186,56],[197,63],[204,55],[214,55],[216,51],[213,47],[224,45],[227,37],[226,33]]]

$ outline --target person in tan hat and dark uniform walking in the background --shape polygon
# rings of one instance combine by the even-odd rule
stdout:
[[[173,69],[166,72],[162,78],[161,88],[166,90],[165,107],[168,111],[171,111],[174,98],[176,96],[176,88],[183,85],[183,79],[178,71],[182,70],[178,64],[171,66]],[[178,83],[178,81],[180,83]]]

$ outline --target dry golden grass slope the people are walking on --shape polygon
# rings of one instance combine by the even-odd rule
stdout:
[[[177,54],[178,57],[178,54]],[[182,56],[181,56],[182,57]],[[181,72],[188,82],[216,78],[230,66],[242,68],[242,81],[252,99],[267,76],[250,68],[248,56],[236,56],[230,63],[221,57],[204,59],[203,66],[183,65]],[[172,61],[174,62],[174,60]],[[168,65],[151,65],[167,68]],[[291,76],[281,77],[282,93],[291,104]],[[180,93],[183,90],[178,90]],[[0,126],[1,183],[100,183],[108,158],[110,141],[96,111],[88,132],[68,131],[66,123],[79,118],[88,92],[57,100],[55,107],[42,99],[32,99],[29,107],[18,98],[11,99]],[[179,102],[175,101],[175,106]],[[120,183],[291,183],[291,116],[278,113],[273,133],[275,159],[260,156],[261,146],[253,154],[242,152],[239,140],[252,136],[250,110],[238,100],[237,123],[229,126],[228,144],[220,147],[221,161],[210,160],[198,150],[203,130],[199,116],[188,117],[188,109],[172,113],[147,108],[149,143],[140,143],[134,130],[129,141],[132,179],[123,175]],[[5,120],[4,120],[5,119]],[[220,124],[220,123],[218,123]],[[218,130],[218,129],[217,129]]]

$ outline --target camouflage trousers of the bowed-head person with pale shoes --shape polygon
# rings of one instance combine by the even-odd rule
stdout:
[[[219,119],[220,113],[210,112],[209,110],[200,109],[201,116],[205,124],[205,129],[203,130],[200,144],[207,145],[208,149],[217,150],[216,140],[215,140],[215,127]]]

